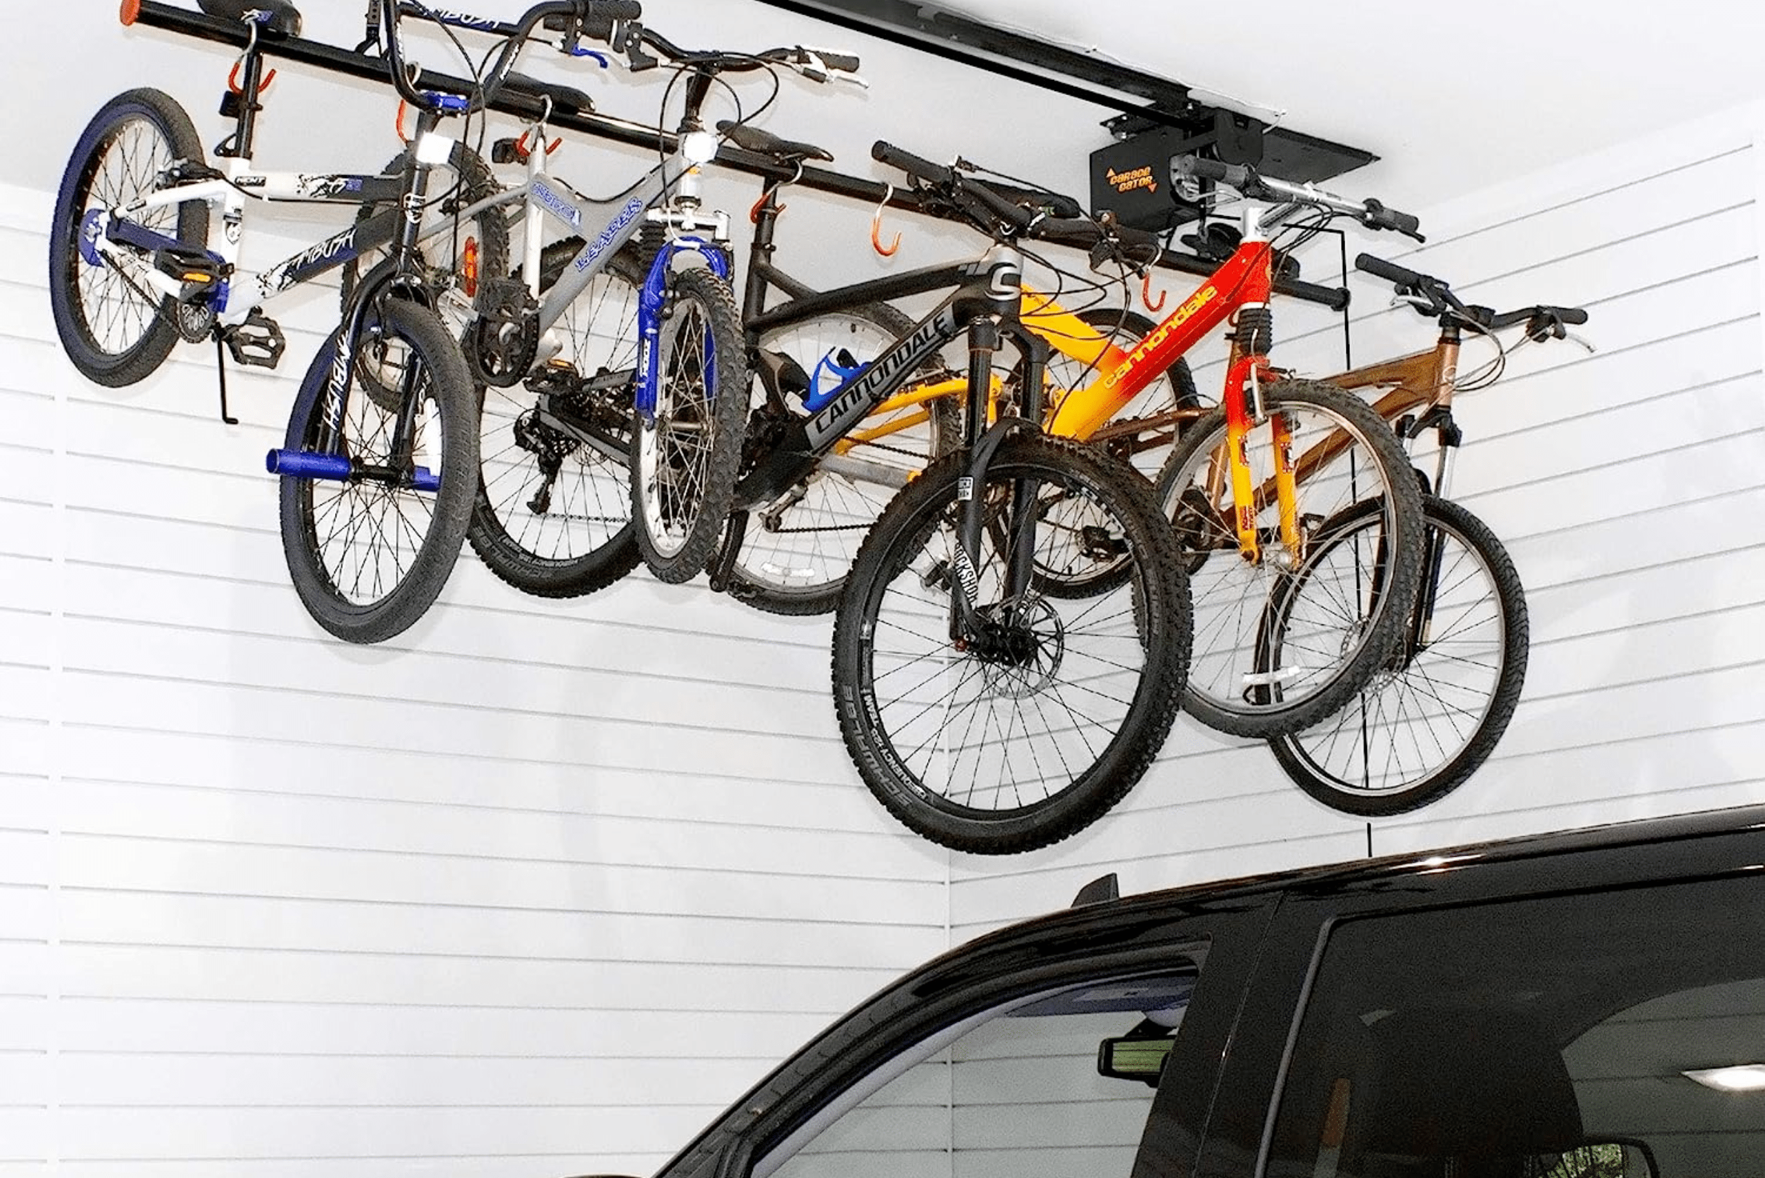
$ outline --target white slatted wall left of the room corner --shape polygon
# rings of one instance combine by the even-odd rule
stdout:
[[[0,192],[4,1178],[648,1173],[944,947],[826,624],[468,555],[402,638],[327,638],[261,453],[335,294],[229,429],[201,349],[65,363],[48,212]]]

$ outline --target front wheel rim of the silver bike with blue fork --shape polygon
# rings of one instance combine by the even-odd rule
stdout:
[[[674,303],[662,340],[657,414],[641,429],[637,466],[650,543],[660,555],[672,557],[687,547],[704,506],[717,446],[711,402],[717,358],[710,317],[694,300]]]

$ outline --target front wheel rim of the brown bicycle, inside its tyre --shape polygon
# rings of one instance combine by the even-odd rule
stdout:
[[[1495,573],[1458,529],[1430,520],[1430,538],[1440,573],[1428,640],[1407,642],[1343,711],[1281,741],[1329,790],[1391,797],[1447,779],[1495,707],[1507,668]]]

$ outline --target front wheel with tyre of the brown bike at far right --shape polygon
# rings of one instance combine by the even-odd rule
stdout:
[[[1400,815],[1451,794],[1488,758],[1520,704],[1527,596],[1514,563],[1456,503],[1428,496],[1423,517],[1423,585],[1398,654],[1343,711],[1269,742],[1299,788],[1343,813]],[[1274,612],[1276,645],[1313,608],[1304,598],[1348,605],[1333,578],[1313,571],[1350,559],[1371,577],[1378,527],[1377,504],[1361,504],[1324,529]]]

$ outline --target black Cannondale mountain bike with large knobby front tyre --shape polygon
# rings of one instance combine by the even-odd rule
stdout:
[[[752,129],[745,139],[768,148]],[[888,145],[875,152],[920,164]],[[748,307],[759,356],[759,340],[794,326],[948,291],[863,372],[824,390],[814,413],[791,411],[801,390],[782,358],[755,367],[759,395],[778,411],[755,414],[762,427],[743,453],[713,584],[741,550],[748,511],[807,478],[944,346],[965,340],[971,372],[988,372],[1010,342],[1041,388],[1047,346],[1017,321],[1013,240],[1031,217],[987,196],[960,199],[992,229],[980,257]],[[761,287],[750,279],[748,289]],[[1188,663],[1184,575],[1144,480],[1041,437],[1038,395],[1025,416],[992,423],[985,395],[965,400],[960,446],[875,518],[833,626],[835,707],[865,785],[909,829],[980,854],[1057,841],[1114,806],[1163,744]],[[1087,598],[1043,591],[1050,577],[1084,578],[1098,564],[1115,575]]]

